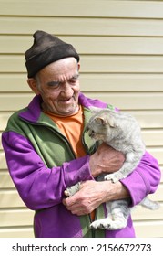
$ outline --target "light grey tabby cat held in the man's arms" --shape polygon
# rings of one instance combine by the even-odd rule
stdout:
[[[101,175],[97,180],[118,180],[128,176],[138,165],[145,154],[146,146],[141,138],[141,129],[136,118],[124,112],[116,112],[110,109],[93,108],[93,116],[87,123],[86,132],[97,142],[105,142],[117,151],[121,151],[126,160],[122,167],[115,173]],[[67,187],[66,196],[73,196],[80,188],[80,183]],[[140,204],[146,208],[157,209],[158,203],[146,197]],[[127,227],[127,219],[130,214],[128,199],[109,201],[106,203],[107,218],[98,219],[91,223],[92,229],[116,230]]]

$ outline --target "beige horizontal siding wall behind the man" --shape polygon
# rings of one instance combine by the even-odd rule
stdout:
[[[0,0],[0,133],[11,113],[33,97],[24,52],[37,29],[76,47],[82,91],[134,114],[163,170],[163,2]],[[163,180],[150,197],[161,208],[133,210],[137,236],[163,237]],[[0,237],[33,237],[32,223],[0,144]]]

